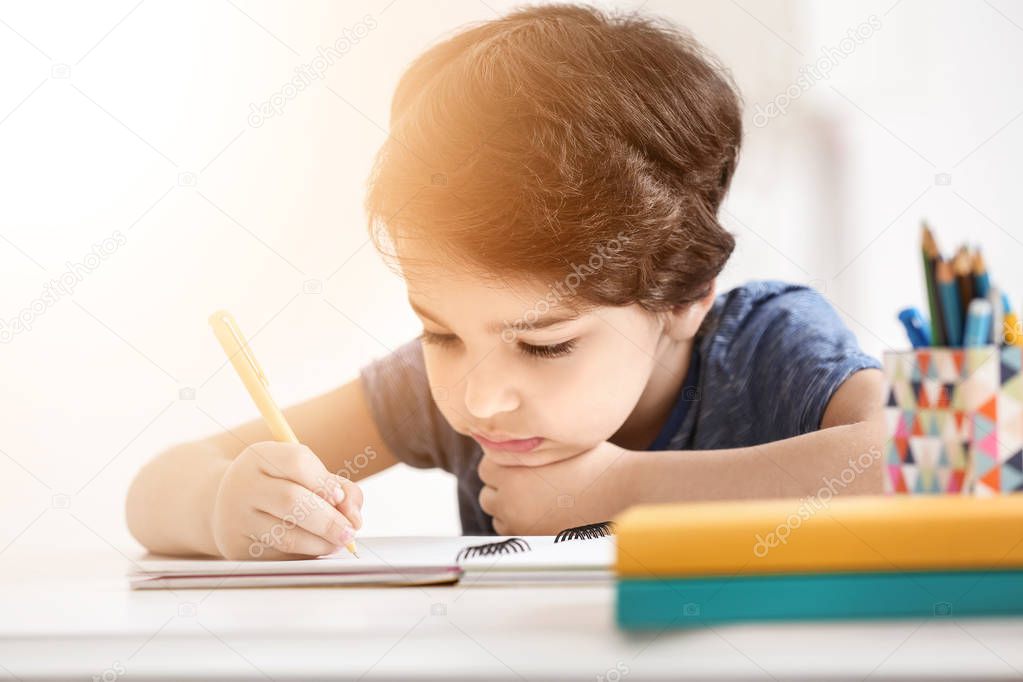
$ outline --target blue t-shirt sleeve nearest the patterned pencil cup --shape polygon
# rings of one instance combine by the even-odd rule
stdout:
[[[750,398],[764,443],[817,430],[838,388],[861,369],[881,367],[827,299],[803,286],[759,302],[739,337],[751,354]]]

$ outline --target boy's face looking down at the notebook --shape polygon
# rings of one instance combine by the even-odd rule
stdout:
[[[642,433],[658,416],[643,410],[667,416],[654,404],[664,400],[650,399],[652,379],[687,363],[692,342],[669,337],[663,317],[636,305],[575,311],[565,283],[559,294],[550,284],[426,266],[405,279],[438,407],[499,463],[547,464],[611,440],[627,422]],[[699,320],[691,323],[695,332]]]

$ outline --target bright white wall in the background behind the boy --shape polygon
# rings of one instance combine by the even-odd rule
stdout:
[[[868,350],[901,347],[894,313],[923,303],[926,216],[948,246],[983,243],[995,278],[1023,293],[1018,4],[602,4],[690,27],[744,92],[748,137],[724,217],[740,240],[724,286],[812,282]],[[401,282],[366,243],[366,174],[403,66],[510,6],[0,6],[0,319],[123,235],[78,269],[72,292],[36,304],[30,331],[0,344],[0,553],[132,547],[122,509],[134,471],[173,442],[255,415],[206,326],[213,310],[259,330],[253,347],[281,403],[350,379],[416,332]],[[754,125],[755,105],[872,14],[880,29],[828,79]],[[324,78],[251,125],[251,104],[346,30],[363,35]],[[951,184],[936,185],[939,173]],[[321,292],[305,292],[310,280]],[[367,533],[457,532],[443,473],[398,468],[364,488]]]

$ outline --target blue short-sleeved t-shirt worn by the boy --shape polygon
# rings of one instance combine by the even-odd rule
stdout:
[[[835,391],[854,372],[880,367],[815,290],[749,282],[715,300],[678,399],[648,450],[742,448],[816,430]],[[483,450],[451,428],[434,403],[419,340],[374,360],[360,375],[395,456],[455,474],[462,533],[493,535],[479,503]]]

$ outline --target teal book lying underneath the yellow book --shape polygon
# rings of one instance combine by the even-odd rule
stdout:
[[[620,579],[625,630],[749,621],[1023,616],[1023,572],[773,574]]]

